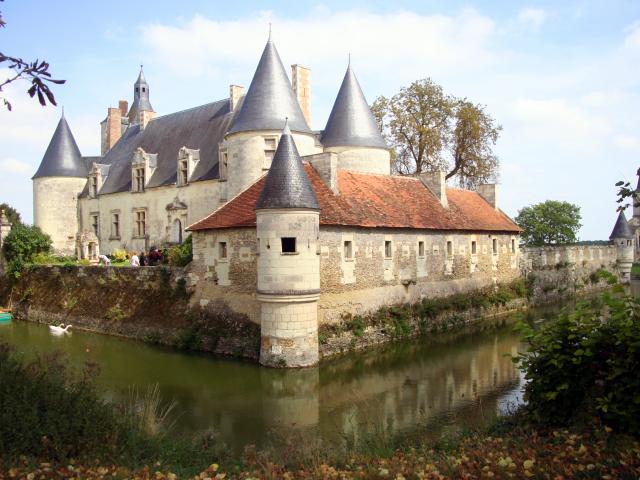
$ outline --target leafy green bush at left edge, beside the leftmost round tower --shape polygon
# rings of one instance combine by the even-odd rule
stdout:
[[[36,226],[19,223],[11,228],[2,248],[9,263],[9,272],[18,277],[24,264],[35,255],[51,251],[51,237]]]

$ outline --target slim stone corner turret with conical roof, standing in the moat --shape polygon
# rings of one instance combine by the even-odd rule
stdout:
[[[318,362],[320,207],[287,124],[256,203],[260,363]]]

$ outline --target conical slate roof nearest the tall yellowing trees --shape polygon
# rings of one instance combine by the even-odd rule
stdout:
[[[325,147],[388,148],[351,65],[342,80],[321,142]]]

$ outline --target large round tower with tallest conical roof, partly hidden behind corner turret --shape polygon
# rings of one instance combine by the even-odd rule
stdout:
[[[307,125],[274,42],[269,38],[241,101],[231,128],[221,145],[226,165],[226,198],[230,199],[255,182],[271,166],[282,122],[289,119],[291,135],[302,155],[320,153]]]

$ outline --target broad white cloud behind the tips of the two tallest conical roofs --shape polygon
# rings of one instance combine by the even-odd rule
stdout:
[[[495,61],[488,46],[495,24],[471,9],[452,16],[315,9],[297,19],[262,12],[233,21],[196,15],[180,26],[143,26],[142,34],[155,53],[155,61],[174,73],[215,76],[225,73],[219,69],[222,64],[231,64],[232,70],[253,71],[269,22],[285,64],[329,64],[343,71],[351,53],[359,71],[383,68],[397,75],[415,65],[429,71],[448,68],[462,72]],[[335,83],[333,72],[326,70],[317,80],[323,82],[327,75]]]

